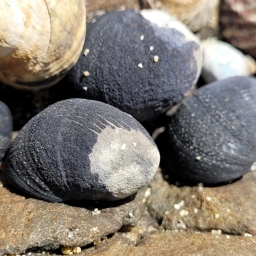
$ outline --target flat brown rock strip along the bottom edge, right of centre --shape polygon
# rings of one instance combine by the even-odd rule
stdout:
[[[209,233],[160,232],[148,236],[138,246],[130,246],[125,237],[114,236],[99,246],[84,250],[81,256],[156,256],[156,255],[255,255],[255,237],[215,236]]]

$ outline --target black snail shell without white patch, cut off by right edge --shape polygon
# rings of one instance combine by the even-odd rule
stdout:
[[[213,184],[241,177],[256,157],[256,79],[200,88],[172,116],[168,134],[182,179]]]

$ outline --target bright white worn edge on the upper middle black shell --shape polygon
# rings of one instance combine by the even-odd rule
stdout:
[[[144,19],[147,19],[149,22],[156,24],[160,28],[176,29],[185,36],[187,42],[195,42],[198,44],[198,49],[193,51],[197,67],[196,79],[194,81],[195,84],[202,71],[203,49],[200,44],[200,39],[194,35],[185,24],[180,22],[180,20],[175,19],[166,12],[161,10],[145,9],[141,10],[140,14]]]

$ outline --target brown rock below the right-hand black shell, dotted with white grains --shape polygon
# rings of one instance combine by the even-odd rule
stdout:
[[[148,211],[168,230],[221,230],[225,234],[256,235],[256,173],[216,188],[183,186],[163,179],[150,182]]]

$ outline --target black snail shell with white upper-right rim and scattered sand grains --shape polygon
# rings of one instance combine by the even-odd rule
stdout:
[[[159,10],[109,12],[87,24],[85,51],[68,74],[77,97],[151,121],[198,81],[200,40]]]

